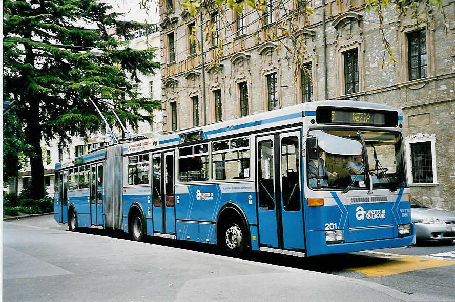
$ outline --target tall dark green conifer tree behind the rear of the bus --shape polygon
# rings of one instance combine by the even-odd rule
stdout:
[[[14,100],[24,144],[31,146],[35,198],[44,196],[42,138],[58,138],[59,147],[67,147],[71,136],[87,138],[105,130],[90,100],[111,124],[116,121],[107,103],[132,126],[152,122],[152,115],[140,110],[160,107],[137,93],[138,73],[153,74],[160,67],[153,62],[156,49],[132,50],[111,35],[144,26],[117,21],[118,16],[94,0],[4,1],[4,94]],[[104,54],[92,56],[92,48]]]

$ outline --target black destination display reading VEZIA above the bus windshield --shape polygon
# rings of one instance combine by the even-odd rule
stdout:
[[[398,113],[396,111],[320,107],[316,112],[316,121],[318,124],[396,127],[398,126]]]

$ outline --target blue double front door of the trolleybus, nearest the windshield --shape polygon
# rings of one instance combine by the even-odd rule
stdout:
[[[300,132],[258,138],[257,158],[260,244],[304,250]]]

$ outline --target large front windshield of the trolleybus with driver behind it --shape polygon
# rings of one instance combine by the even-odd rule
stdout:
[[[312,130],[318,159],[308,159],[308,186],[312,189],[406,187],[403,141],[398,132]],[[365,148],[362,138],[365,142]],[[368,162],[368,165],[365,163]],[[368,166],[369,171],[366,170]],[[367,173],[371,178],[367,176]]]

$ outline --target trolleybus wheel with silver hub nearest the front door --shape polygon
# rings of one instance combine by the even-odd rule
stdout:
[[[245,230],[239,221],[227,221],[224,223],[218,244],[221,252],[227,256],[239,257],[245,251]]]

